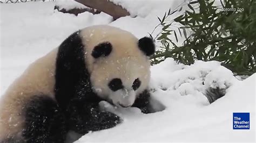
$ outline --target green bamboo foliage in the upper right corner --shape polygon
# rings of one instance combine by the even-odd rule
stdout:
[[[180,11],[182,6],[158,18],[160,24],[157,27],[161,26],[162,29],[154,39],[161,46],[151,58],[153,64],[168,57],[186,65],[194,63],[194,60],[217,60],[239,75],[255,73],[255,0],[222,0],[221,5],[215,5],[214,1],[198,0],[191,1],[187,6],[189,10],[174,21],[167,22],[166,19]],[[174,34],[178,42],[177,32],[170,30],[174,22],[181,25],[177,31],[181,37],[185,37],[181,46],[168,38],[168,35]]]

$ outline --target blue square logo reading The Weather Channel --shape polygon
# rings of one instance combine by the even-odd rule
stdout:
[[[233,130],[250,129],[250,113],[233,113]]]

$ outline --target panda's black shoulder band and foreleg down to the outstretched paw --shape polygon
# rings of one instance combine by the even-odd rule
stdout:
[[[55,78],[55,96],[64,110],[69,130],[85,134],[120,123],[118,116],[98,109],[98,103],[102,99],[91,89],[90,74],[84,59],[84,45],[79,32],[70,35],[59,46]]]

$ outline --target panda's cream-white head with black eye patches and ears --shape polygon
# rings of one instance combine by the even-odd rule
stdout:
[[[93,31],[93,32],[92,32]],[[86,33],[86,32],[84,32]],[[87,37],[86,59],[96,94],[122,107],[131,106],[150,80],[151,38],[137,39],[115,27],[92,28]]]

